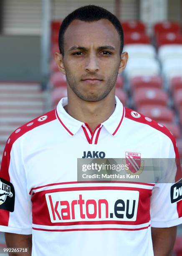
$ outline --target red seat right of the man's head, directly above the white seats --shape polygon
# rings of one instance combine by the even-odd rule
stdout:
[[[125,33],[124,44],[150,44],[150,38],[144,33]]]

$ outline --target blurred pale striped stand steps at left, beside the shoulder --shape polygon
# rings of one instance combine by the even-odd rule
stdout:
[[[0,163],[8,136],[45,110],[38,83],[0,82]]]

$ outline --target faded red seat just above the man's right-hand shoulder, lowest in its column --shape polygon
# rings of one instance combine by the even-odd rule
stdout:
[[[173,111],[166,106],[145,105],[139,108],[138,111],[143,115],[146,115],[148,118],[152,118],[153,120],[156,120],[159,123],[171,123],[174,121]]]

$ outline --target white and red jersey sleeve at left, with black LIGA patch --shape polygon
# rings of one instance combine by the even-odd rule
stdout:
[[[8,139],[0,169],[0,231],[28,235],[32,233],[31,198],[27,181],[21,137]]]

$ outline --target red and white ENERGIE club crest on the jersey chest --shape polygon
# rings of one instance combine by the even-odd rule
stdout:
[[[141,174],[144,169],[144,161],[141,160],[141,154],[135,152],[125,152],[124,164],[128,165],[129,169],[126,170],[129,174]]]

